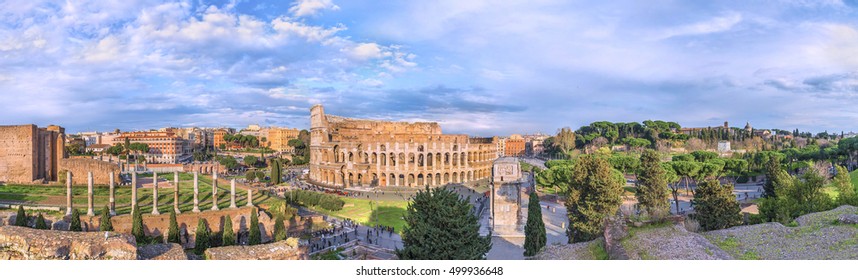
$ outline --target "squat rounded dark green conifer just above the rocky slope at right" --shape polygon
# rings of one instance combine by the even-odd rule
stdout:
[[[722,186],[715,180],[708,180],[697,187],[694,193],[694,218],[703,230],[725,229],[742,224],[742,209],[733,185]]]

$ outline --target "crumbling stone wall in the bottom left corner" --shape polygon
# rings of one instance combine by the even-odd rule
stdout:
[[[137,242],[129,234],[68,232],[0,227],[2,260],[135,260]]]

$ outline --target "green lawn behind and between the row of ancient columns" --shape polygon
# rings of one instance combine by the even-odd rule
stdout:
[[[142,175],[140,178],[151,177]],[[158,176],[160,179],[173,180],[173,175]],[[211,209],[212,207],[212,187],[211,178],[200,176],[199,186],[199,201],[200,209]],[[191,211],[194,208],[194,185],[193,174],[180,173],[179,175],[179,210]],[[229,207],[229,184],[220,181],[218,184],[218,207]],[[144,213],[152,211],[152,192],[151,188],[137,189],[137,201],[140,210]],[[72,187],[72,203],[76,209],[86,212],[87,204],[87,187],[73,186]],[[110,201],[110,188],[107,186],[93,187],[93,205],[96,212],[99,212]],[[131,187],[116,186],[115,188],[116,212],[118,214],[131,213]],[[264,204],[269,199],[268,196],[262,195],[258,191],[253,193],[254,205]],[[59,206],[65,208],[66,205],[66,187],[60,185],[52,186],[28,186],[28,185],[3,185],[0,186],[0,200],[23,202],[26,204],[39,204],[47,206]],[[236,188],[236,205],[243,206],[247,204],[247,191]],[[158,189],[158,211],[168,213],[173,209],[173,188]]]

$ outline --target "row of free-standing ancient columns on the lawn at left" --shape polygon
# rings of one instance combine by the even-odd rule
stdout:
[[[116,215],[116,197],[115,197],[115,181],[113,179],[114,173],[110,172],[110,202],[108,204],[108,208],[110,211],[110,215]],[[72,214],[72,174],[71,172],[66,173],[66,215]],[[158,173],[155,172],[152,174],[152,215],[160,215],[161,213],[158,211]],[[200,212],[199,207],[199,173],[194,172],[194,208],[191,210],[194,213]],[[95,216],[95,211],[93,207],[94,199],[93,199],[93,176],[92,172],[87,173],[87,210],[86,214],[88,216]],[[253,206],[253,190],[247,190],[247,206]],[[133,212],[137,207],[137,172],[131,173],[131,211]],[[238,208],[235,204],[235,179],[230,181],[230,203],[229,208],[235,209]],[[217,206],[217,173],[214,173],[212,180],[212,208],[211,210],[220,210]],[[179,172],[176,171],[173,173],[173,211],[176,214],[181,213],[179,211]]]

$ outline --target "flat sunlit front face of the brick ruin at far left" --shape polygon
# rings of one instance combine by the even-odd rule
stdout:
[[[0,182],[31,183],[36,180],[35,125],[0,126]]]

